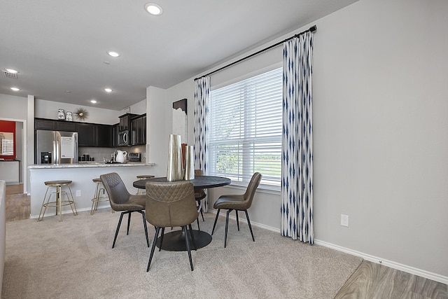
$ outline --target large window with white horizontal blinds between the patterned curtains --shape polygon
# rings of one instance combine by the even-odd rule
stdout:
[[[211,91],[208,172],[248,182],[280,186],[282,69]]]

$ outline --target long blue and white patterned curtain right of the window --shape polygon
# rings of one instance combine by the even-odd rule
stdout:
[[[283,43],[281,235],[314,243],[313,34]]]

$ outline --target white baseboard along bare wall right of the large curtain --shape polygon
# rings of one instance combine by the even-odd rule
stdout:
[[[448,284],[448,277],[442,276],[440,274],[435,274],[433,272],[428,272],[426,270],[421,270],[421,269],[418,269],[416,267],[410,267],[408,265],[403,265],[403,264],[400,264],[400,263],[396,263],[393,260],[386,260],[384,258],[379,258],[377,256],[372,256],[372,255],[367,254],[367,253],[363,253],[363,252],[360,252],[360,251],[348,249],[348,248],[345,248],[345,247],[342,247],[342,246],[338,246],[338,245],[335,245],[335,244],[331,244],[331,243],[328,243],[328,242],[324,242],[324,241],[321,241],[321,240],[318,240],[318,239],[314,239],[314,244],[325,246],[325,247],[328,247],[330,249],[335,249],[337,251],[342,251],[342,252],[345,252],[345,253],[349,253],[352,256],[359,256],[360,258],[364,258],[365,260],[368,260],[368,261],[370,261],[372,263],[385,265],[386,267],[391,267],[391,268],[393,268],[395,270],[400,270],[400,271],[403,271],[403,272],[407,272],[409,274],[414,274],[414,275],[417,275],[417,276],[420,276],[420,277],[424,277],[426,279],[431,279],[431,280],[434,280],[434,281],[438,281],[438,282],[441,282],[442,284]]]

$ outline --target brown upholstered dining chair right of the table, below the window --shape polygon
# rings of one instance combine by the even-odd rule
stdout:
[[[224,237],[224,248],[227,246],[227,231],[229,226],[229,214],[231,211],[235,210],[235,214],[237,216],[237,227],[239,230],[239,220],[238,220],[238,211],[244,211],[246,213],[247,223],[249,225],[249,230],[251,230],[251,235],[253,242],[255,242],[255,238],[253,237],[251,221],[249,220],[249,215],[247,213],[247,209],[251,207],[253,195],[255,195],[255,190],[257,190],[258,185],[261,181],[261,174],[259,172],[255,172],[253,174],[251,181],[249,181],[246,192],[241,195],[221,195],[218,200],[214,203],[214,209],[218,209],[216,212],[215,223],[213,225],[213,230],[211,230],[211,235],[213,235],[215,231],[216,221],[218,221],[219,212],[221,209],[227,209],[227,216],[225,217],[225,237]]]

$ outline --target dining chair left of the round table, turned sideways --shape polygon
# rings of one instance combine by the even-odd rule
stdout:
[[[123,215],[125,214],[128,214],[126,235],[129,235],[131,214],[134,211],[140,213],[143,218],[146,244],[148,244],[149,247],[148,228],[146,226],[144,211],[146,204],[146,195],[130,194],[126,189],[125,183],[123,183],[123,180],[116,172],[102,174],[101,176],[99,176],[99,179],[101,179],[103,186],[106,189],[107,195],[109,195],[109,202],[111,203],[113,211],[121,211],[120,220],[118,221],[117,230],[115,232],[115,237],[113,238],[112,248],[115,246],[118,231],[120,230],[121,221],[123,220]]]

